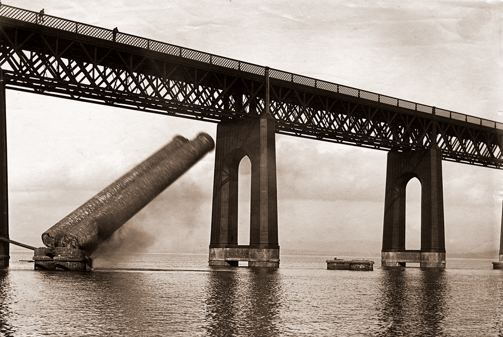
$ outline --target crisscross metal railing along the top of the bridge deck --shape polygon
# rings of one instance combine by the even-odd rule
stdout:
[[[60,29],[66,32],[73,32],[87,37],[97,38],[100,40],[108,40],[111,42],[121,43],[147,50],[157,51],[160,53],[170,54],[205,62],[211,65],[218,65],[224,68],[237,70],[245,73],[255,75],[266,75],[266,67],[253,63],[243,62],[232,58],[209,54],[206,52],[176,46],[170,43],[150,40],[143,37],[117,32],[114,34],[112,29],[96,27],[88,24],[83,24],[76,21],[66,20],[51,15],[41,14],[33,11],[24,10],[7,5],[0,5],[0,17],[30,22],[33,24],[41,25],[44,27],[51,27]],[[115,35],[115,36],[114,36]],[[468,123],[483,125],[496,129],[503,130],[503,123],[496,122],[484,118],[465,115],[462,113],[439,109],[434,106],[414,103],[410,101],[401,100],[398,98],[380,95],[370,91],[360,90],[336,83],[317,80],[307,76],[297,75],[293,73],[283,72],[281,70],[270,69],[269,77],[277,80],[300,84],[311,88],[326,90],[334,93],[345,94],[353,97],[363,98],[370,101],[392,105],[401,108],[407,108],[432,115],[447,117]]]

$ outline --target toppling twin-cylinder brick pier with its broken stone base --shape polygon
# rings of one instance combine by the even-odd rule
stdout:
[[[88,256],[131,217],[215,146],[200,133],[173,142],[116,180],[46,231],[48,248],[35,249],[35,268],[85,270]]]

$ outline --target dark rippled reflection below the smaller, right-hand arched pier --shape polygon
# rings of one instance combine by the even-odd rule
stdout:
[[[448,287],[442,269],[383,269],[378,317],[382,336],[443,335]]]

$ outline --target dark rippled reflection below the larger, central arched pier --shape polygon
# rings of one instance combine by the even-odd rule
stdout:
[[[233,273],[214,269],[208,275],[205,299],[208,335],[280,335],[278,270],[241,268]]]

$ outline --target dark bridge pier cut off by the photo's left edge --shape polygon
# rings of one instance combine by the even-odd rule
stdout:
[[[5,75],[0,69],[0,237],[9,238]],[[0,240],[0,269],[9,267],[9,242]]]

